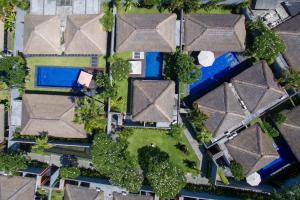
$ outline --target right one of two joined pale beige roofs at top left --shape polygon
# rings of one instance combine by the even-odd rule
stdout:
[[[106,54],[107,32],[102,15],[69,15],[65,30],[66,54]]]

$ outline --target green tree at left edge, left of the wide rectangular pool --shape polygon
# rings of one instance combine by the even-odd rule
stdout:
[[[3,57],[0,59],[0,80],[9,87],[23,87],[27,75],[25,60],[20,56]]]

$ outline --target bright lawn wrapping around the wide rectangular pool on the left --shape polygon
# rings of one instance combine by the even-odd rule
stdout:
[[[49,65],[64,67],[86,67],[90,66],[91,64],[90,57],[30,57],[26,60],[29,68],[29,76],[28,80],[26,81],[25,88],[27,90],[36,91],[68,92],[70,89],[35,87],[35,66]]]

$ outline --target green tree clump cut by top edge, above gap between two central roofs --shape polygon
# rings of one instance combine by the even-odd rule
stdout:
[[[185,13],[197,11],[200,7],[199,0],[170,0],[162,1],[161,6],[170,12],[179,12],[181,9]]]

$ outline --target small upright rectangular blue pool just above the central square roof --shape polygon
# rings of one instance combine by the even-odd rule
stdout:
[[[163,54],[160,52],[146,53],[146,71],[147,79],[162,79]]]

